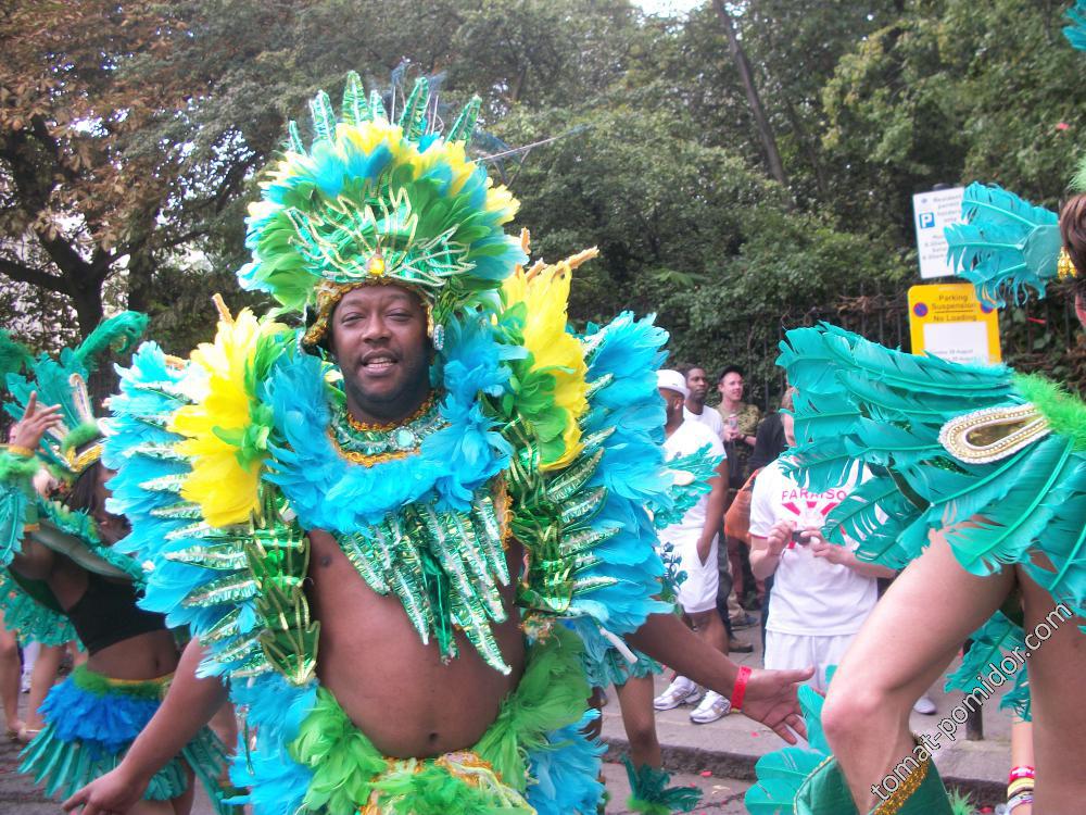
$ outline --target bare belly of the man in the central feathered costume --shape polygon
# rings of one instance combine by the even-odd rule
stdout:
[[[429,757],[475,744],[523,670],[525,645],[513,587],[508,618],[492,630],[513,672],[487,665],[457,632],[459,655],[443,663],[422,644],[399,598],[374,592],[331,536],[311,532],[308,595],[320,620],[317,674],[355,726],[384,755]],[[509,553],[517,573],[519,557]]]

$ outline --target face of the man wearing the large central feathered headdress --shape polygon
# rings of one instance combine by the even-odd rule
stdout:
[[[348,397],[366,413],[399,417],[429,387],[426,311],[399,286],[364,286],[343,296],[331,319],[329,348]]]

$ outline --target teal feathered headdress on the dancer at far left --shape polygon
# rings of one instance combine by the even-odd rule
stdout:
[[[48,430],[37,451],[58,473],[75,478],[101,457],[102,430],[87,392],[87,379],[98,369],[102,353],[111,348],[124,353],[146,328],[146,314],[123,312],[99,325],[75,350],[65,348],[59,360],[46,353],[34,358],[7,334],[0,340],[4,359],[22,363],[9,366],[7,385],[13,401],[7,402],[4,410],[20,421],[35,391],[39,404],[61,405],[63,421]],[[24,367],[28,376],[18,373]]]

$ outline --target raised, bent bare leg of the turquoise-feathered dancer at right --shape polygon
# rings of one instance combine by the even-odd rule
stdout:
[[[822,709],[826,738],[860,812],[914,747],[909,712],[961,643],[999,607],[1014,570],[965,572],[940,535],[893,582],[834,676]]]

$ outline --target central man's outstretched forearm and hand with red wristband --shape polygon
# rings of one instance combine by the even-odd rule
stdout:
[[[711,688],[725,699],[732,697],[738,665],[708,645],[674,614],[648,615],[645,624],[626,639],[698,685]],[[743,714],[795,744],[793,731],[807,735],[796,700],[796,685],[810,679],[813,673],[813,668],[752,672],[746,684]]]

